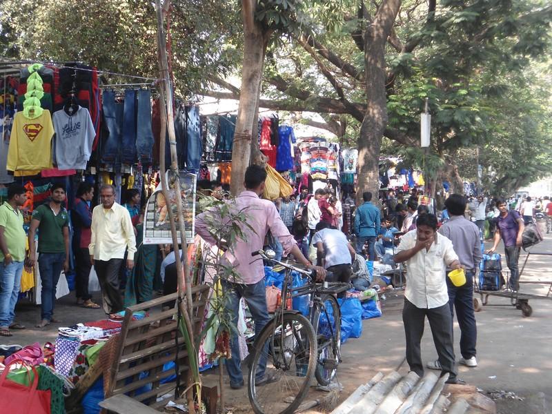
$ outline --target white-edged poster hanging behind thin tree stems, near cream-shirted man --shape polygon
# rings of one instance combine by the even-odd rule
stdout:
[[[195,174],[179,172],[180,188],[176,188],[176,180],[172,172],[167,171],[168,193],[172,217],[177,227],[178,242],[180,243],[180,225],[178,223],[177,199],[182,203],[184,224],[186,226],[186,240],[193,242],[195,232]],[[161,193],[160,187],[148,199],[146,217],[144,218],[144,244],[172,244],[168,204]]]

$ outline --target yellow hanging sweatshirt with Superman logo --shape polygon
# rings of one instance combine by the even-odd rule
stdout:
[[[36,171],[52,168],[52,137],[54,126],[49,110],[30,119],[23,112],[17,112],[13,120],[7,169],[14,171]],[[20,175],[20,174],[19,174]]]

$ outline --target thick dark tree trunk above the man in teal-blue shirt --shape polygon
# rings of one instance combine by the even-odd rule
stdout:
[[[357,202],[362,193],[371,191],[377,199],[380,190],[378,161],[382,137],[387,126],[387,96],[385,89],[385,48],[393,28],[401,0],[384,0],[364,34],[364,68],[366,71],[366,115],[359,136],[359,179]]]

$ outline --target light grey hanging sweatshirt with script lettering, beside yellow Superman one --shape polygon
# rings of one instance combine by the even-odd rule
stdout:
[[[73,115],[68,115],[65,110],[58,110],[54,112],[52,121],[56,132],[54,161],[57,168],[86,169],[96,136],[88,109],[79,106]]]

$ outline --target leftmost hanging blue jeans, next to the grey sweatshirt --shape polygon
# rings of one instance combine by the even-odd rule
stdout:
[[[103,91],[103,119],[106,121],[106,128],[109,135],[103,144],[101,161],[106,164],[115,164],[119,161],[119,150],[121,149],[121,127],[123,125],[124,105],[115,103],[115,92],[112,90]]]

